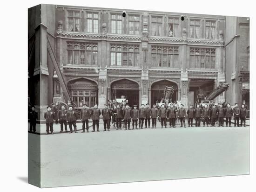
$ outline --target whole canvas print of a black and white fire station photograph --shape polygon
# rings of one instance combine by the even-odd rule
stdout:
[[[249,174],[249,23],[28,8],[28,183]]]

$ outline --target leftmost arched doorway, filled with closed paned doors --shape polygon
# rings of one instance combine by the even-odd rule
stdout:
[[[94,81],[85,78],[78,78],[67,83],[67,87],[74,102],[78,108],[82,108],[85,103],[88,107],[93,107],[98,102],[98,86]]]

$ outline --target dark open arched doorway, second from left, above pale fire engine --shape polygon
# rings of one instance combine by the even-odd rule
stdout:
[[[126,96],[128,100],[128,105],[133,107],[133,105],[140,104],[139,98],[139,84],[128,79],[121,79],[111,83],[111,99],[121,98],[121,96]]]

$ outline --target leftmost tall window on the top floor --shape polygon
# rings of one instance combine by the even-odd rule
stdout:
[[[80,32],[81,14],[80,11],[68,11],[68,31]]]

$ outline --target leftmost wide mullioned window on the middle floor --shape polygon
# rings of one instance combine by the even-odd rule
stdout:
[[[97,65],[98,45],[67,42],[67,64]]]

